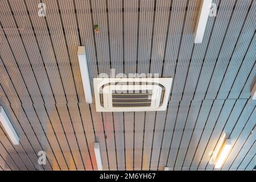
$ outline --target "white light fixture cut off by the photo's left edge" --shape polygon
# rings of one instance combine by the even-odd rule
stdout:
[[[2,123],[2,126],[5,129],[7,135],[11,139],[11,142],[13,142],[14,145],[18,145],[19,137],[16,134],[16,131],[14,130],[14,127],[11,124],[2,106],[0,106],[0,122]]]

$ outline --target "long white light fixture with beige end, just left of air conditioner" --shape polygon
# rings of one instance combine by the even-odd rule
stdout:
[[[90,87],[89,68],[84,46],[78,47],[78,57],[82,77],[82,86],[84,87],[85,101],[86,103],[92,103],[92,89]]]

